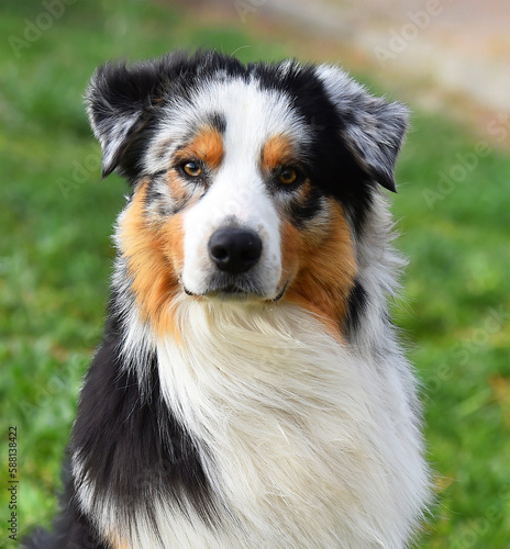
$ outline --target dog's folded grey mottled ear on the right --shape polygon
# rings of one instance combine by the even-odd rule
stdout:
[[[357,164],[375,181],[397,192],[393,169],[406,134],[407,107],[370,96],[337,67],[321,65],[317,74],[341,116],[342,137]]]

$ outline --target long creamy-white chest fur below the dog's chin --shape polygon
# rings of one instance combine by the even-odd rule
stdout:
[[[362,361],[292,305],[186,299],[176,318],[162,390],[224,516],[212,531],[162,503],[165,547],[406,546],[426,491],[406,363]]]

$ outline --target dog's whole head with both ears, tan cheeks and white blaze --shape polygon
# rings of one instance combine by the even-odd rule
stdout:
[[[89,115],[133,193],[118,239],[157,332],[171,300],[288,300],[341,322],[355,239],[392,170],[406,110],[340,69],[177,54],[107,66]]]

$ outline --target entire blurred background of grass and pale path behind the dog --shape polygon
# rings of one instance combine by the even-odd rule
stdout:
[[[506,0],[0,1],[0,548],[48,525],[101,337],[124,183],[101,182],[96,66],[174,48],[334,61],[407,102],[391,197],[410,258],[395,317],[423,386],[437,505],[418,547],[510,540],[510,8]]]

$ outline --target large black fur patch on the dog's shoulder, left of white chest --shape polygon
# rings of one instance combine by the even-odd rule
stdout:
[[[122,368],[121,338],[112,315],[81,390],[70,451],[96,486],[95,500],[113,498],[121,519],[129,523],[135,508],[153,513],[158,494],[182,512],[191,503],[211,524],[211,488],[197,447],[163,400],[156,357],[143,365],[151,392],[142,395],[136,378]],[[77,492],[82,480],[75,479]]]

